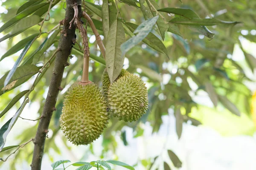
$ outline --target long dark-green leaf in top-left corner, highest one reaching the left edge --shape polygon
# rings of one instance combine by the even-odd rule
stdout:
[[[20,12],[20,14],[15,15],[12,19],[10,19],[7,23],[3,24],[3,26],[0,28],[0,32],[3,32],[7,28],[13,26],[15,23],[19,22],[24,17],[28,16],[29,14],[32,14],[37,9],[42,8],[43,6],[46,6],[49,3],[41,3],[35,6],[31,6],[27,8],[25,11]]]

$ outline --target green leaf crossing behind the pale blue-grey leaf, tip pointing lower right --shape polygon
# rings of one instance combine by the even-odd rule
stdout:
[[[131,32],[134,32],[134,30],[136,30],[138,27],[138,25],[136,25],[134,23],[125,23],[125,25]],[[167,49],[166,49],[165,45],[163,44],[163,42],[159,38],[157,38],[157,36],[152,34],[151,32],[142,41],[145,44],[147,44],[148,46],[150,46],[151,48],[153,48],[154,50],[156,50],[160,53],[166,54],[166,56],[168,57],[168,52],[167,52]]]

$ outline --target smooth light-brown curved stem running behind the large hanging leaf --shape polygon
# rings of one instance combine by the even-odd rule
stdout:
[[[96,27],[95,27],[95,25],[94,25],[92,19],[91,19],[90,16],[89,16],[86,12],[84,12],[84,11],[83,11],[83,13],[82,13],[82,16],[87,20],[87,22],[89,23],[90,27],[92,28],[93,34],[94,34],[95,37],[96,37],[96,42],[97,42],[97,44],[99,45],[99,49],[100,49],[100,51],[101,51],[101,53],[102,53],[102,56],[103,56],[104,59],[105,59],[106,49],[105,49],[105,46],[104,46],[104,44],[103,44],[103,42],[102,42],[102,39],[101,39],[101,37],[99,36],[99,33],[98,33],[98,31],[97,31],[97,29],[96,29]]]

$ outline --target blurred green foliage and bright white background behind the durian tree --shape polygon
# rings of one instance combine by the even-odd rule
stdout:
[[[26,2],[1,0],[0,26],[14,17],[20,6]],[[140,25],[145,20],[140,11],[140,3],[136,3],[136,7],[127,2],[117,1],[122,18],[126,22]],[[88,146],[71,144],[59,126],[65,92],[70,85],[81,79],[83,54],[79,46],[74,45],[71,53],[73,57],[68,61],[70,66],[64,71],[61,85],[64,90],[58,96],[57,111],[53,113],[50,123],[42,170],[51,170],[50,164],[62,159],[68,159],[72,163],[113,159],[132,165],[136,170],[168,170],[164,164],[168,164],[172,170],[256,170],[256,13],[253,11],[256,1],[156,2],[159,8],[189,8],[201,18],[216,17],[224,21],[243,23],[207,26],[215,34],[212,40],[209,32],[193,26],[175,25],[178,29],[166,32],[163,41],[170,59],[143,42],[128,51],[123,68],[137,74],[145,82],[149,109],[138,122],[127,123],[111,117],[102,136]],[[32,63],[33,53],[51,35],[47,32],[57,28],[55,26],[64,18],[64,0],[56,0],[55,3],[49,13],[49,21],[42,27],[43,34],[33,43],[22,63]],[[97,9],[101,9],[102,0],[86,0],[85,5],[105,43],[101,17],[96,14]],[[173,17],[167,13],[163,15],[167,21]],[[15,50],[12,47],[39,32],[41,26],[29,23],[30,21],[25,18],[16,26],[0,33],[0,77],[12,69],[25,44]],[[89,79],[101,86],[105,65],[97,61],[102,56],[89,26],[87,30],[90,54],[93,56],[90,60]],[[153,30],[152,33],[160,38],[157,31]],[[81,45],[78,31],[76,35],[77,42]],[[126,35],[126,40],[129,38]],[[43,57],[33,64],[42,66],[56,50],[58,40],[59,34],[49,44]],[[30,94],[30,102],[20,115],[22,118],[40,117],[52,67],[53,64]],[[17,94],[29,89],[34,80],[35,76],[17,88],[1,94],[0,111]],[[1,117],[1,127],[12,118],[22,101],[23,98]],[[38,121],[18,119],[5,146],[23,144],[34,138],[37,126]],[[33,148],[33,143],[26,144],[6,162],[0,161],[0,169],[29,170]],[[0,158],[5,159],[13,151],[0,152]],[[112,168],[125,169],[114,166]],[[68,169],[76,168],[70,166]]]

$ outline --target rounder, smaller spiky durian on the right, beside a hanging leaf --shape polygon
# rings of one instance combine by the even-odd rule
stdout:
[[[142,79],[127,73],[109,87],[108,105],[114,117],[137,121],[148,109],[148,92]]]

